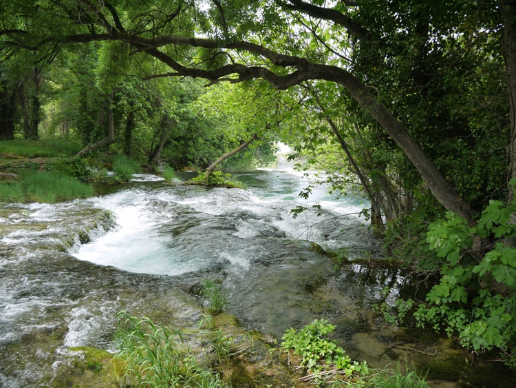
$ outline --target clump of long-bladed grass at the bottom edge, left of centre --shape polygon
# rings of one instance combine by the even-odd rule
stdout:
[[[120,353],[111,361],[118,384],[131,387],[222,387],[218,374],[203,369],[181,349],[182,334],[149,318],[118,313]]]

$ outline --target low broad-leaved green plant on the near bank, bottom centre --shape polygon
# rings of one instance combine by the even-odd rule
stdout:
[[[334,331],[334,325],[326,320],[314,320],[310,325],[297,331],[290,328],[281,337],[283,351],[290,351],[301,356],[301,364],[306,371],[313,374],[316,382],[321,383],[325,377],[332,374],[343,375],[345,378],[353,378],[361,374],[367,374],[367,363],[352,362],[345,350],[339,347],[335,341],[327,338],[327,335]]]

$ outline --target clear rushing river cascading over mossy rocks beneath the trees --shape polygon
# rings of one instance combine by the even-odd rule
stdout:
[[[228,312],[249,329],[281,338],[290,326],[326,318],[354,358],[380,362],[388,355],[433,365],[428,354],[442,339],[400,333],[372,314],[380,298],[415,297],[401,272],[358,262],[338,268],[313,244],[378,260],[379,242],[358,215],[367,205],[361,198],[336,201],[317,189],[306,203],[298,197],[306,181],[294,172],[238,178],[248,190],[140,175],[89,200],[1,208],[0,386],[53,386],[70,367],[74,347],[116,351],[122,309],[195,327],[202,300],[194,291],[206,277],[222,281]],[[289,213],[297,206],[308,210],[294,219]],[[436,365],[434,378],[464,386],[484,385],[482,376],[493,382],[491,366],[471,368],[460,351],[447,351],[448,367]],[[506,380],[500,384],[489,386],[505,387]]]

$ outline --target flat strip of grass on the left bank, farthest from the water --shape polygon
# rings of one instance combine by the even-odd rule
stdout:
[[[0,154],[12,154],[25,158],[74,155],[82,149],[76,141],[67,139],[6,140],[0,141]]]

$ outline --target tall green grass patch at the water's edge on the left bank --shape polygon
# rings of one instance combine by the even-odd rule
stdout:
[[[70,176],[56,172],[37,171],[23,176],[20,181],[0,182],[0,201],[54,203],[94,194],[93,187]]]

